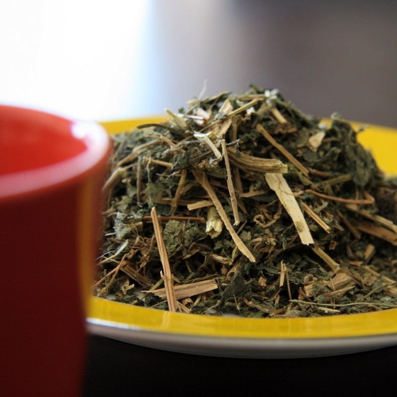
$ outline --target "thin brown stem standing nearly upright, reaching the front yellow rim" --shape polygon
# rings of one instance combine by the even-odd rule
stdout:
[[[160,254],[161,264],[163,265],[164,273],[161,274],[161,278],[164,280],[168,307],[169,307],[170,312],[175,312],[177,310],[177,301],[175,298],[173,276],[171,273],[170,263],[168,262],[167,250],[165,248],[163,236],[161,233],[161,226],[160,226],[160,222],[158,220],[156,207],[152,208],[152,210],[150,212],[150,216],[153,221],[154,235],[156,236],[156,240],[157,240],[157,248],[158,248],[158,251]]]

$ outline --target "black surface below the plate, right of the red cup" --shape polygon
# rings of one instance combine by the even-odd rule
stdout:
[[[82,396],[393,395],[396,362],[397,346],[335,357],[232,359],[92,336]]]

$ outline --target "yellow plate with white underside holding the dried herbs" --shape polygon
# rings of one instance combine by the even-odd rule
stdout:
[[[159,118],[102,123],[123,132]],[[354,127],[362,124],[352,123]],[[397,130],[367,125],[359,140],[383,170],[397,174]],[[397,309],[321,318],[249,319],[171,313],[91,297],[92,334],[192,354],[298,358],[348,354],[397,344]]]

